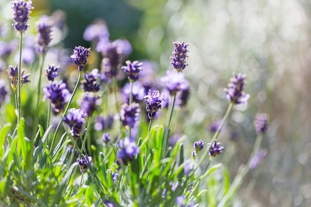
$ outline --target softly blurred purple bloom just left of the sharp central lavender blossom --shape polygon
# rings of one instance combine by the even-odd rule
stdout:
[[[138,121],[139,115],[141,113],[140,105],[133,102],[131,105],[126,103],[121,105],[120,119],[121,124],[125,129],[130,129],[134,127],[134,124]]]

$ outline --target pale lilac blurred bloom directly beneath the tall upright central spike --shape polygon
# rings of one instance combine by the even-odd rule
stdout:
[[[175,95],[179,90],[189,89],[188,81],[185,79],[184,74],[180,72],[167,70],[166,75],[161,78],[161,81],[171,96]]]

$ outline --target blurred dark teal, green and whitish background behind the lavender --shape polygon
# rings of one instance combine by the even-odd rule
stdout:
[[[8,19],[10,1],[0,4]],[[124,37],[133,45],[129,59],[157,63],[160,75],[171,69],[172,42],[189,43],[189,66],[183,72],[192,93],[179,132],[188,137],[188,157],[193,141],[208,142],[208,127],[224,115],[223,89],[232,72],[245,73],[251,98],[247,107],[234,108],[219,138],[226,148],[218,161],[233,177],[250,155],[255,114],[268,113],[271,125],[261,145],[268,153],[253,173],[254,190],[246,190],[250,172],[234,205],[311,206],[311,1],[33,0],[33,6],[37,17],[65,11],[64,45],[71,50],[88,47],[85,27],[104,19],[111,40]]]

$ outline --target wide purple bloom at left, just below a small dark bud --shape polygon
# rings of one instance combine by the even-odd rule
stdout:
[[[66,88],[66,83],[54,81],[43,88],[43,100],[49,98],[52,104],[52,111],[58,114],[64,110],[65,103],[70,99],[70,92]]]

